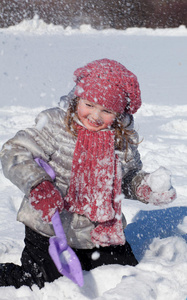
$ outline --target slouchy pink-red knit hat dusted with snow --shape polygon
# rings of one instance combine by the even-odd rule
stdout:
[[[75,95],[118,113],[134,114],[141,106],[137,77],[122,64],[95,60],[74,72]]]

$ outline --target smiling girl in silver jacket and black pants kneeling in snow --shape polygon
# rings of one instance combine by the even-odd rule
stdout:
[[[135,266],[124,236],[122,194],[154,204],[176,196],[171,185],[153,191],[151,174],[141,170],[132,117],[141,106],[136,76],[109,59],[91,62],[74,76],[76,86],[62,97],[60,107],[41,112],[33,128],[19,131],[2,148],[4,175],[25,194],[18,220],[26,231],[22,265],[1,264],[1,286],[41,288],[61,276],[48,254],[57,209],[83,270],[116,263]],[[98,259],[93,259],[95,251]]]

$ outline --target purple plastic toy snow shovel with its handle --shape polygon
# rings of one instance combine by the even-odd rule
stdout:
[[[55,172],[51,166],[40,158],[35,158],[35,161],[52,179],[55,178]],[[82,287],[84,284],[82,267],[75,252],[68,246],[58,210],[51,220],[56,236],[49,239],[49,254],[60,274]]]

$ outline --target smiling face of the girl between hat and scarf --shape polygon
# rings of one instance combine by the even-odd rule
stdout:
[[[77,114],[82,124],[90,131],[109,128],[116,118],[114,111],[85,99],[79,100]]]

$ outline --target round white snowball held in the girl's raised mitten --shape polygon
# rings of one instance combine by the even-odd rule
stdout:
[[[171,172],[164,167],[160,167],[148,176],[147,183],[153,192],[168,191],[171,188]]]

